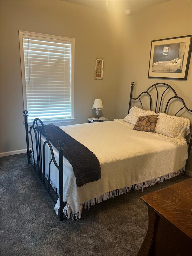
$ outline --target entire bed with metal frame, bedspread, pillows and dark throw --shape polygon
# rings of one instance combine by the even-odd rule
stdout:
[[[137,98],[132,96],[133,88],[131,83],[129,113],[124,119],[60,128],[35,119],[28,129],[28,113],[24,111],[28,163],[42,183],[47,179],[56,191],[55,212],[60,220],[63,216],[80,219],[83,209],[131,192],[133,187],[143,189],[185,173],[192,146],[190,121],[167,115],[167,111],[175,100],[183,105],[176,114],[192,110],[168,84],[156,83]],[[154,90],[155,103],[151,96]],[[162,111],[169,90],[173,96]],[[144,95],[149,98],[149,110],[143,110]],[[141,106],[132,106],[134,101]]]

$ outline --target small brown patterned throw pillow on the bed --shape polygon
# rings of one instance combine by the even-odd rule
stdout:
[[[157,115],[139,116],[133,130],[155,132],[156,123]]]

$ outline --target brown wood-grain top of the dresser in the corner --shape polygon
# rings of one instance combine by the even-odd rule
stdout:
[[[147,194],[141,199],[192,239],[192,178]]]

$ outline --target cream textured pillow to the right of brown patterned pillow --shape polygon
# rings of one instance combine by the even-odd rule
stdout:
[[[190,121],[185,117],[169,116],[158,113],[155,132],[171,138],[184,138],[190,133]]]

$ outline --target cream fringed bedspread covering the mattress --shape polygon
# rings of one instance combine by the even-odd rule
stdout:
[[[67,218],[80,218],[82,209],[131,191],[132,185],[140,189],[182,172],[187,143],[181,146],[150,132],[133,131],[133,126],[119,119],[60,127],[90,149],[101,164],[101,179],[77,188],[72,166],[64,158],[63,200],[67,204],[63,212]],[[54,152],[58,158],[58,151]],[[59,193],[58,170],[51,165],[50,182]],[[46,176],[47,173],[48,168]],[[57,209],[59,201],[55,205],[56,212]]]

